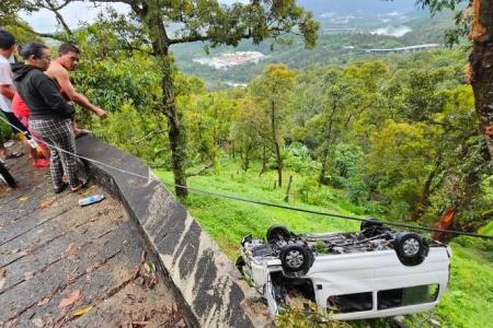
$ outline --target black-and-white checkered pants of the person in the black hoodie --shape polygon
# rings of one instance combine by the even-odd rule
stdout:
[[[70,187],[76,187],[79,179],[77,178],[77,157],[72,155],[76,153],[76,139],[70,119],[32,119],[30,127],[46,142],[51,152],[49,171],[55,189],[62,186],[64,173]]]

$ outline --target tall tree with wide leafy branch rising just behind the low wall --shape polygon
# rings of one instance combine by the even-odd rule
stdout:
[[[12,7],[18,1],[12,1]],[[50,5],[53,8],[49,8]],[[60,7],[82,0],[22,1],[25,9],[44,8],[56,13]],[[171,47],[192,42],[207,42],[210,46],[237,46],[243,38],[259,44],[266,38],[279,39],[288,34],[303,36],[307,47],[317,43],[319,23],[310,12],[297,5],[296,0],[252,0],[246,4],[220,4],[217,0],[91,0],[93,3],[125,3],[131,8],[129,15],[112,15],[115,35],[129,49],[148,50],[157,59],[156,70],[161,73],[162,91],[159,110],[168,119],[168,137],[172,152],[175,191],[187,195],[186,189],[186,129],[183,114],[176,108],[173,77],[175,67]],[[2,2],[4,3],[4,2]],[[9,2],[10,3],[10,2]],[[9,5],[5,4],[5,5]],[[12,9],[11,9],[12,10]],[[57,15],[58,19],[58,15]],[[58,22],[61,23],[60,20]],[[170,33],[169,25],[180,26]],[[69,31],[66,31],[70,34]],[[149,46],[142,46],[149,45]]]

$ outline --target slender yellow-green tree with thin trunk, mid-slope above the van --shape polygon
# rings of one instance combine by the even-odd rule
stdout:
[[[287,98],[295,85],[295,72],[280,65],[271,65],[262,75],[253,80],[251,92],[268,121],[268,140],[274,149],[277,166],[277,186],[283,186],[283,157],[280,147],[283,143],[283,122],[286,121]]]

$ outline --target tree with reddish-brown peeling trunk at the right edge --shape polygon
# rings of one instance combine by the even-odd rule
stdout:
[[[432,13],[435,13],[443,9],[455,10],[466,0],[417,0],[417,2],[429,7]],[[486,139],[493,161],[493,1],[468,0],[468,10],[460,12],[456,22],[461,27],[459,33],[468,32],[468,37],[473,44],[468,79],[474,91],[480,130]],[[468,16],[470,13],[473,15],[472,25]]]

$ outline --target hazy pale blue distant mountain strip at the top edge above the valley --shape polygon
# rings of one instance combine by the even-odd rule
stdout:
[[[298,3],[316,15],[336,14],[385,14],[410,12],[417,9],[416,0],[298,0]]]

